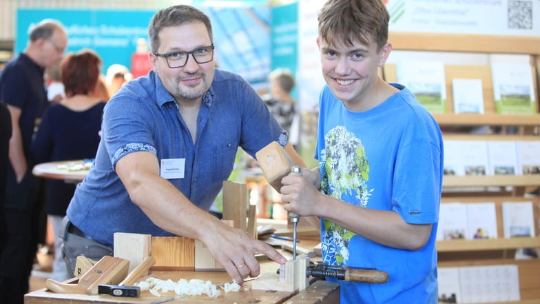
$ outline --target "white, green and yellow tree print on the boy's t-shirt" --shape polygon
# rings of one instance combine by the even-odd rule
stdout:
[[[366,207],[373,190],[366,181],[369,164],[362,141],[345,127],[338,126],[324,136],[324,149],[320,151],[322,172],[321,192],[358,207]],[[346,265],[349,260],[349,241],[354,232],[324,219],[322,250],[324,263]]]

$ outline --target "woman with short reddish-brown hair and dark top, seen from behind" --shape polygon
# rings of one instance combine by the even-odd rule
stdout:
[[[32,152],[39,163],[93,159],[96,155],[105,107],[105,101],[94,96],[100,69],[101,59],[92,50],[67,54],[62,60],[61,80],[66,97],[43,113],[32,142]],[[52,278],[60,282],[72,277],[63,262],[62,240],[58,236],[75,188],[75,183],[56,179],[47,181],[45,202],[54,234]]]

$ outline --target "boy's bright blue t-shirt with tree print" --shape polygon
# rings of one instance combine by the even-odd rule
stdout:
[[[437,303],[435,237],[442,190],[442,135],[402,85],[384,103],[351,112],[328,87],[320,95],[315,158],[321,192],[357,207],[393,210],[412,224],[433,224],[417,251],[386,247],[321,220],[324,263],[376,268],[387,283],[340,281],[341,303]]]

